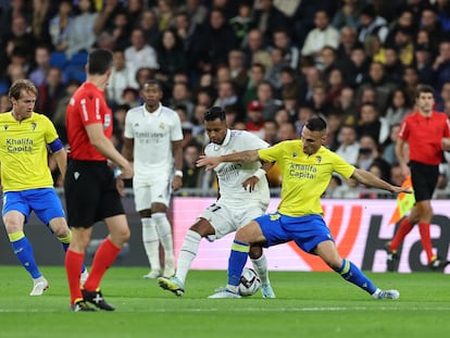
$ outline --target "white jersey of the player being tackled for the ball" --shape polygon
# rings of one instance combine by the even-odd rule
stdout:
[[[267,147],[267,142],[249,132],[228,129],[223,143],[209,143],[204,149],[204,153],[208,157],[220,157],[238,151]],[[255,202],[262,204],[265,209],[270,200],[268,183],[265,175],[261,177],[254,191],[249,192],[249,190],[242,187],[242,183],[253,176],[260,167],[260,162],[223,162],[218,164],[214,171],[218,178],[220,202],[229,206],[236,205],[240,208],[246,203]]]

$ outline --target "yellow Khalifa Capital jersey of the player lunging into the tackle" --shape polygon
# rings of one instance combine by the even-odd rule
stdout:
[[[355,170],[325,147],[312,155],[305,154],[301,140],[279,142],[258,153],[263,161],[278,163],[283,177],[278,211],[288,216],[323,214],[321,196],[332,174],[349,178]]]

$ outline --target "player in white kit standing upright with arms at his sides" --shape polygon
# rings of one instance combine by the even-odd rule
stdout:
[[[178,114],[161,104],[161,84],[147,82],[140,90],[145,103],[125,118],[123,155],[134,161],[133,189],[142,224],[142,241],[150,262],[145,278],[173,276],[175,258],[166,211],[172,189],[183,186],[183,130]],[[160,242],[164,270],[160,264]]]

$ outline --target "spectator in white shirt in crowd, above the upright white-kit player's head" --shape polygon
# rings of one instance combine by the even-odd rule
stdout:
[[[146,41],[146,36],[141,28],[134,28],[130,35],[132,46],[125,49],[125,60],[129,62],[135,70],[150,67],[158,70],[158,55],[153,47]]]

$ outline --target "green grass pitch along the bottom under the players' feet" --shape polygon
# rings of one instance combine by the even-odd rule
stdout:
[[[400,300],[374,300],[334,273],[272,272],[276,299],[207,299],[224,271],[191,271],[183,298],[143,279],[142,267],[112,267],[102,283],[115,312],[72,313],[63,267],[41,267],[50,283],[30,297],[18,266],[0,266],[0,337],[448,337],[449,276],[371,274]]]

